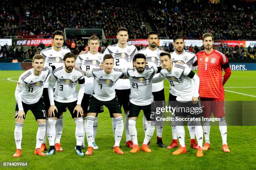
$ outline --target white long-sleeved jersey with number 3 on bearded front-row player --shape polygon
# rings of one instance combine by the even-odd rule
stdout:
[[[52,72],[48,80],[49,87],[53,88],[56,83],[54,100],[57,102],[74,102],[78,100],[77,82],[79,83],[79,86],[81,85],[80,89],[81,87],[84,87],[84,73],[82,70],[75,68],[71,73],[67,73],[64,70],[64,67],[65,66],[63,65]],[[82,99],[80,100],[82,101]],[[51,102],[51,105],[52,104],[53,103]]]

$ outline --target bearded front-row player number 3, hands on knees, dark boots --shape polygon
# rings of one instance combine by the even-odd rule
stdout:
[[[72,115],[76,123],[75,136],[77,139],[76,153],[83,156],[81,145],[83,140],[83,110],[81,107],[82,98],[84,96],[84,73],[80,69],[74,68],[76,57],[73,53],[68,52],[64,55],[64,65],[56,68],[49,78],[49,119],[48,119],[48,139],[50,149],[46,153],[47,156],[55,153],[54,140],[56,136],[55,124],[60,112],[66,107]],[[74,69],[73,69],[74,68]],[[57,83],[56,83],[57,82]],[[79,92],[77,93],[77,82],[79,83]],[[56,84],[56,90],[53,90]]]

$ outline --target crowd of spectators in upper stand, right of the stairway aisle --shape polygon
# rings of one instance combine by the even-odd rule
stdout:
[[[161,37],[182,34],[200,40],[205,32],[215,40],[255,40],[254,4],[212,4],[193,1],[153,1],[147,6],[147,20]]]

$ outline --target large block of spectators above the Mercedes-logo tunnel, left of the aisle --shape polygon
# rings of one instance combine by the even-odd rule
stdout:
[[[147,36],[144,15],[139,2],[93,2],[83,0],[52,1],[43,3],[22,1],[20,13],[23,20],[19,35],[49,37],[55,30],[64,28],[103,28],[107,38],[115,38],[119,27],[126,27],[130,37]]]

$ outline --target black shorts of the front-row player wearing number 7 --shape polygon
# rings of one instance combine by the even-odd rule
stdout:
[[[99,113],[101,111],[102,105],[108,107],[110,117],[114,117],[113,113],[120,113],[122,114],[121,107],[118,103],[117,97],[113,98],[109,101],[101,101],[96,99],[93,95],[90,97],[89,106],[88,106],[88,113]]]

